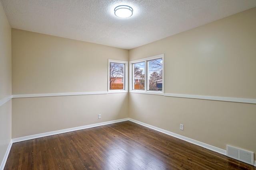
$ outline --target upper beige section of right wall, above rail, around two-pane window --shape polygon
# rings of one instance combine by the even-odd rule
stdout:
[[[132,49],[164,53],[165,93],[256,99],[256,8]]]

